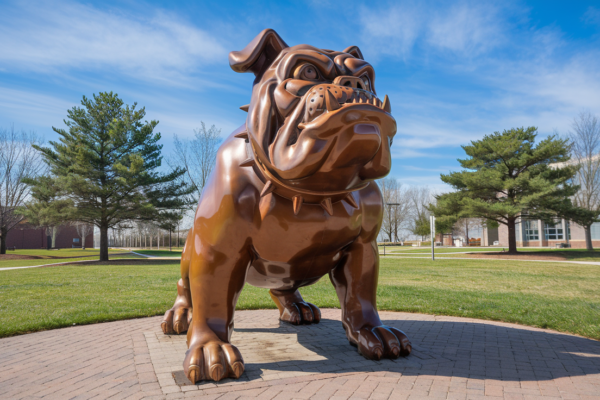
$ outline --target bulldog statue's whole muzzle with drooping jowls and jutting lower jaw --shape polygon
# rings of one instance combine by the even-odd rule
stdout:
[[[272,121],[273,139],[265,146],[266,154],[258,152],[257,157],[271,165],[279,179],[298,185],[311,175],[336,171],[340,187],[353,187],[359,179],[357,171],[369,168],[377,154],[389,151],[388,143],[396,133],[390,100],[337,83],[308,88],[303,84],[282,82],[276,90],[283,123]]]

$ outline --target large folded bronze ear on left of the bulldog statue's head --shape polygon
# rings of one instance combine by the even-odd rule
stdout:
[[[277,32],[265,29],[248,43],[244,50],[229,53],[229,65],[235,72],[250,71],[258,77],[287,47]]]

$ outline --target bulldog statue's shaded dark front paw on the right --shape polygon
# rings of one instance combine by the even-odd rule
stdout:
[[[360,329],[356,346],[358,352],[370,360],[406,357],[412,351],[410,340],[404,332],[385,325]]]

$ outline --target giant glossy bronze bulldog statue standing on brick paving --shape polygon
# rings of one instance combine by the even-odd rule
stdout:
[[[190,381],[239,378],[230,343],[244,284],[270,289],[280,318],[318,323],[299,288],[329,275],[351,344],[366,358],[411,352],[376,307],[377,234],[396,133],[390,101],[360,50],[289,47],[270,29],[229,55],[256,76],[246,123],[219,149],[181,259],[177,299],[162,322],[187,331]]]

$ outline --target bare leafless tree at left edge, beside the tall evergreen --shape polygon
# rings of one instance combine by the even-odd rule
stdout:
[[[39,137],[25,131],[0,129],[0,254],[6,254],[6,236],[23,216],[15,211],[29,197],[29,186],[24,178],[42,173],[44,164],[31,145],[41,144]]]

